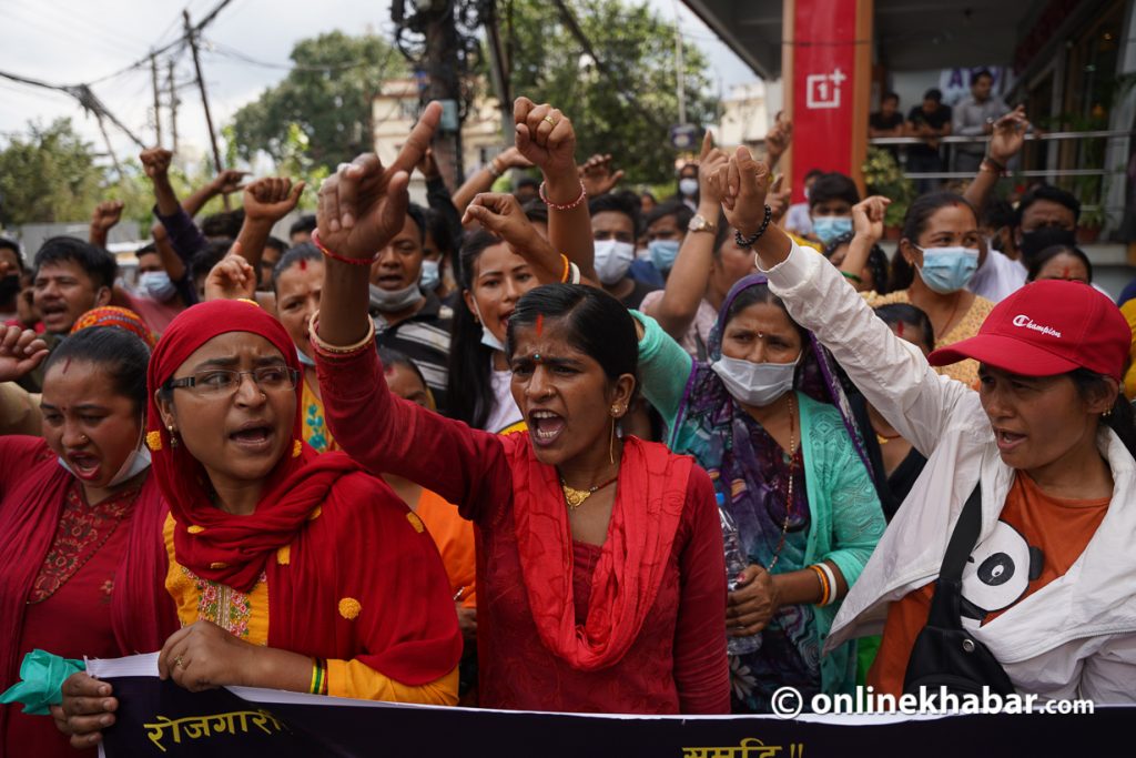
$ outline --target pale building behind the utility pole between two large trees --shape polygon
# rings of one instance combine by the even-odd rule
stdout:
[[[484,88],[478,88],[484,91]],[[418,118],[418,82],[414,78],[387,80],[371,101],[375,152],[384,166],[399,155],[402,143]],[[462,167],[466,176],[477,170],[504,150],[501,110],[495,98],[474,100],[461,125]],[[417,172],[410,177],[410,192],[425,198],[425,182]]]

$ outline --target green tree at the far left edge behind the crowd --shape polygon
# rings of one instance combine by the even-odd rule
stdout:
[[[0,150],[0,222],[6,225],[85,219],[101,198],[106,169],[69,118],[28,124]]]

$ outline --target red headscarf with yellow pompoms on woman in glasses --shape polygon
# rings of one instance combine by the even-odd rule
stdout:
[[[353,658],[409,685],[448,674],[462,643],[437,549],[381,480],[345,453],[319,456],[302,443],[302,384],[296,383],[293,444],[268,475],[251,515],[214,506],[204,468],[184,444],[169,444],[156,391],[202,344],[227,332],[259,334],[289,367],[301,368],[284,327],[251,302],[200,303],[166,330],[150,359],[147,440],[174,516],[177,561],[242,592],[266,573],[273,647]],[[361,557],[371,570],[349,565]]]

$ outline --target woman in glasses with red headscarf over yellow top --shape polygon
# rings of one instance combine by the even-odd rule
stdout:
[[[437,549],[382,480],[303,442],[299,377],[287,332],[245,300],[182,313],[154,350],[147,444],[182,622],[159,674],[452,705],[462,645]],[[76,747],[107,726],[108,686],[65,684]]]

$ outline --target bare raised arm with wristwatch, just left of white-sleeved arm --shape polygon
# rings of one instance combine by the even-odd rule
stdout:
[[[721,197],[709,185],[708,178],[726,166],[728,160],[722,150],[713,147],[713,134],[708,130],[702,138],[702,155],[699,157],[699,216],[710,226],[705,231],[686,233],[662,298],[650,308],[644,308],[644,313],[658,320],[659,326],[676,340],[682,340],[694,322],[710,282],[713,242],[717,225],[722,219]]]

